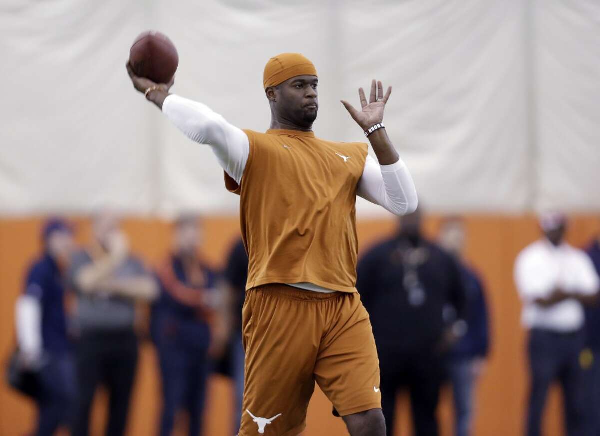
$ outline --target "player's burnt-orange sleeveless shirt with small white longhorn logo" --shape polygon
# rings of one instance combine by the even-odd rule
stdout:
[[[251,289],[310,282],[356,292],[356,190],[367,144],[318,139],[312,132],[245,130],[250,155],[241,187],[242,239]]]

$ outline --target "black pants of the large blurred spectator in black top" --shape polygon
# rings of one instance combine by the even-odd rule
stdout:
[[[396,398],[400,390],[410,395],[415,436],[437,436],[437,405],[444,380],[445,360],[431,352],[398,355],[380,349],[383,416],[388,436],[394,434]]]

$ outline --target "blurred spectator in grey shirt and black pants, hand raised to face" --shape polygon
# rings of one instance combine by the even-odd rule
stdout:
[[[110,395],[106,434],[121,436],[127,425],[137,366],[135,304],[158,293],[154,277],[128,252],[119,220],[108,212],[94,217],[94,240],[73,258],[77,292],[79,398],[73,436],[88,435],[94,393],[104,384]]]

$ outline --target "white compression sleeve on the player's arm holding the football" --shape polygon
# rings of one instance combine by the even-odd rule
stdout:
[[[238,184],[250,155],[248,136],[208,106],[169,95],[163,113],[191,140],[211,146],[219,164]]]

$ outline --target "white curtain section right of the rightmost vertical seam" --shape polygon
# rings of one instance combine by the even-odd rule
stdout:
[[[538,204],[600,209],[600,2],[536,0]]]

